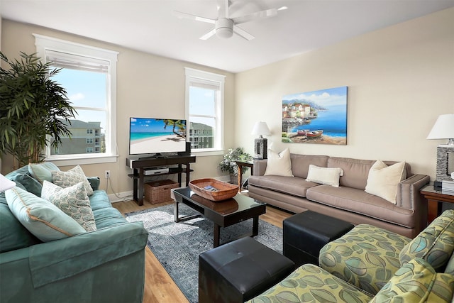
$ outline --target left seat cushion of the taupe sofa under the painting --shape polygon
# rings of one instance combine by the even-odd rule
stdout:
[[[250,185],[271,189],[275,192],[284,192],[297,197],[306,197],[307,189],[319,186],[319,183],[307,182],[298,177],[282,177],[282,176],[250,176],[248,179]]]

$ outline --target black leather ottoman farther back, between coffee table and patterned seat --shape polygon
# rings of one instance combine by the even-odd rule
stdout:
[[[315,211],[294,214],[283,221],[283,253],[297,267],[306,263],[319,265],[321,248],[352,228],[351,223]]]

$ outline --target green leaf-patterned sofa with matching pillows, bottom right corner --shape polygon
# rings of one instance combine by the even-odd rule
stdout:
[[[454,210],[413,240],[360,224],[253,303],[454,302]]]

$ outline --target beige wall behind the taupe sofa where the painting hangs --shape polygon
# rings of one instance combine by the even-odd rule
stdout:
[[[348,145],[282,143],[282,96],[348,87]],[[236,75],[236,143],[253,153],[255,121],[268,145],[292,153],[407,161],[436,176],[436,146],[426,136],[454,113],[454,9]]]

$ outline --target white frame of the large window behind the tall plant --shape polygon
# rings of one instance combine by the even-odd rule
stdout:
[[[116,62],[118,52],[106,50],[103,48],[95,48],[94,46],[74,43],[67,40],[38,35],[33,33],[35,37],[36,53],[41,57],[43,62],[46,58],[46,50],[54,50],[72,55],[84,57],[92,57],[99,60],[109,62],[109,79],[110,87],[107,92],[107,121],[106,121],[106,153],[90,153],[78,155],[50,155],[50,147],[46,148],[46,160],[55,162],[56,165],[82,165],[116,162],[117,160],[117,145],[116,145]]]

